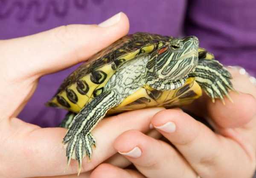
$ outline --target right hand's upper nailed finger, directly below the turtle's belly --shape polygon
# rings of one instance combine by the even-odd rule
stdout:
[[[252,159],[247,151],[252,152],[252,147],[244,148],[246,144],[215,135],[207,126],[182,111],[161,111],[154,116],[151,123],[175,145],[203,178],[216,178],[222,175],[243,177],[246,172],[250,172],[249,165],[252,165]],[[234,171],[237,167],[246,168]]]

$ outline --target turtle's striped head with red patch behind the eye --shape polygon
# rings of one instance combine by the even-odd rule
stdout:
[[[159,90],[182,86],[198,63],[198,38],[171,38],[158,43],[146,66],[146,83]]]

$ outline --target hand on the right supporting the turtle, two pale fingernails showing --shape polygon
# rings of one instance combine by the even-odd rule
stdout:
[[[208,96],[186,107],[211,123],[214,132],[180,109],[154,115],[151,123],[172,145],[137,130],[122,133],[115,149],[138,171],[101,164],[91,178],[251,178],[256,167],[256,87],[230,69],[231,103],[212,103]],[[245,94],[250,93],[250,94]],[[253,97],[254,96],[254,97]]]

